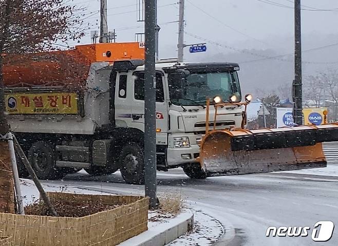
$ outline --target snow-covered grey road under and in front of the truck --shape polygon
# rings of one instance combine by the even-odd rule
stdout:
[[[63,181],[45,181],[93,191],[136,194],[143,186],[125,184],[116,173],[90,177],[84,171]],[[180,169],[158,173],[158,191],[180,192],[191,206],[217,218],[227,227],[216,245],[338,245],[338,229],[331,240],[265,236],[269,226],[310,226],[331,220],[338,228],[338,165],[306,171],[214,177],[191,180]],[[310,231],[311,234],[311,231]]]

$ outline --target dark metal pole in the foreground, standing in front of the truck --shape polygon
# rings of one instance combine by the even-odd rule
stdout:
[[[149,206],[156,208],[156,0],[145,0],[144,7],[144,190]]]

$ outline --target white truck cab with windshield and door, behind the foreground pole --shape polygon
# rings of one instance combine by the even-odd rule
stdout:
[[[206,99],[241,100],[236,63],[157,63],[156,128],[158,168],[196,162],[205,133]],[[144,66],[117,74],[115,117],[120,126],[144,131]],[[211,106],[213,107],[213,106]],[[210,112],[213,112],[211,110]],[[222,108],[219,128],[240,127],[242,107]],[[213,121],[213,114],[210,114]]]

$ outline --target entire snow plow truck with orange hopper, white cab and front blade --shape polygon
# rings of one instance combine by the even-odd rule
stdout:
[[[236,63],[156,63],[157,168],[191,178],[325,167],[338,125],[247,130]],[[144,181],[144,46],[6,55],[8,121],[40,179],[84,168]],[[20,162],[19,162],[20,165]],[[28,175],[22,165],[21,176]]]

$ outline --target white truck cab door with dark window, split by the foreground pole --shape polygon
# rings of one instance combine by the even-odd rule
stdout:
[[[144,131],[144,71],[136,71],[134,77],[134,103],[132,105],[132,126]],[[164,93],[164,74],[156,72],[156,128],[158,145],[167,144],[167,106]]]

